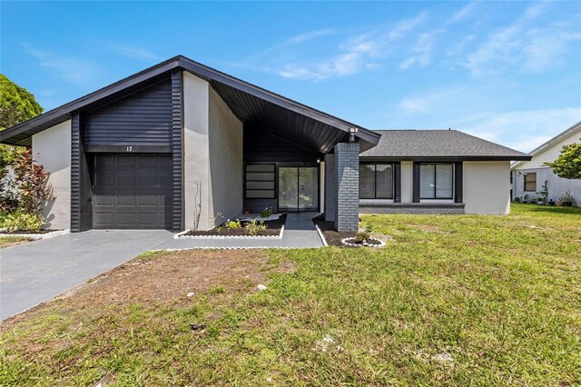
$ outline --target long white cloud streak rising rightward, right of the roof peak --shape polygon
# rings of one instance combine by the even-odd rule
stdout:
[[[403,38],[426,18],[424,13],[403,20],[389,30],[372,31],[348,38],[338,46],[340,53],[314,63],[291,63],[273,70],[285,78],[320,81],[376,68],[377,59],[389,53],[390,45]]]

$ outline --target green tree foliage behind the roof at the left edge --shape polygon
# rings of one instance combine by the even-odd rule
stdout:
[[[0,131],[43,113],[43,108],[25,88],[0,74]],[[22,148],[0,145],[0,168],[13,164]]]

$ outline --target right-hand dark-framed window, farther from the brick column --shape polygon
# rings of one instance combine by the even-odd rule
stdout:
[[[454,197],[453,164],[419,165],[419,198],[420,199],[453,199]]]

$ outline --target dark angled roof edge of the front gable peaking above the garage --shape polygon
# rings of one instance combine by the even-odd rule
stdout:
[[[123,89],[131,87],[135,84],[140,84],[143,81],[146,81],[154,76],[178,68],[189,71],[190,73],[205,78],[206,80],[226,84],[244,93],[248,93],[258,98],[261,98],[265,101],[268,101],[271,104],[277,104],[295,113],[303,114],[324,124],[334,126],[346,133],[350,133],[350,130],[352,128],[355,128],[357,129],[357,132],[354,133],[356,137],[359,137],[361,140],[367,141],[373,145],[379,143],[379,138],[381,137],[381,135],[373,131],[370,131],[369,129],[365,129],[356,124],[351,124],[348,121],[321,112],[320,110],[314,109],[306,104],[300,104],[296,101],[293,101],[289,98],[282,96],[281,94],[272,93],[257,85],[250,84],[229,74],[225,74],[218,70],[215,70],[212,67],[199,64],[183,55],[174,56],[166,61],[163,61],[158,65],[153,65],[152,67],[146,68],[145,70],[137,74],[130,75],[126,78],[123,78],[120,81],[117,81],[113,84],[109,84],[108,86],[105,86],[91,94],[86,94],[68,104],[64,104],[62,106],[54,108],[53,110],[38,115],[28,121],[25,121],[24,123],[16,124],[15,126],[12,126],[6,129],[5,131],[0,132],[0,143],[4,143],[5,140],[14,137],[15,135],[24,134],[26,131],[32,130],[34,129],[34,127],[37,127],[39,125],[51,123],[63,117],[65,118],[63,121],[65,121],[66,119],[70,118],[70,114],[72,114],[74,111],[81,109],[88,104],[93,104],[94,102],[104,97],[118,93]]]

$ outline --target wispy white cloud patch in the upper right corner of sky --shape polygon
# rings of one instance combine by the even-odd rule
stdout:
[[[544,3],[532,5],[514,24],[488,35],[486,42],[468,55],[464,63],[470,73],[476,76],[502,74],[511,68],[539,73],[559,65],[559,55],[566,51],[569,42],[580,40],[581,33],[572,28],[574,23],[566,22],[529,27],[528,23],[542,15],[546,8]]]

